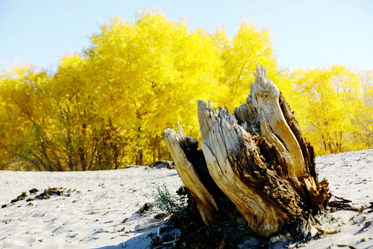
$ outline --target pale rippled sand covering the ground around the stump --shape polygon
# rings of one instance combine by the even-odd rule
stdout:
[[[325,226],[341,232],[288,247],[373,248],[373,149],[316,158],[319,178],[326,178],[332,194],[363,205],[361,213],[340,210],[327,214]],[[147,248],[162,220],[160,210],[136,211],[153,201],[157,185],[171,193],[182,185],[174,169],[128,167],[98,172],[0,172],[0,248]],[[65,194],[34,199],[48,187]],[[36,194],[28,190],[37,188]],[[70,190],[70,196],[66,196]],[[22,192],[26,199],[10,204]],[[30,204],[31,203],[31,204]],[[334,217],[329,222],[330,217]],[[139,230],[142,225],[155,227]],[[338,227],[339,225],[339,227]],[[276,244],[273,248],[283,248]]]

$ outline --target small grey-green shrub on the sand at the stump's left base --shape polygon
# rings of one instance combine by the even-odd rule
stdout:
[[[157,185],[156,191],[153,192],[153,205],[160,210],[164,210],[171,216],[184,216],[187,213],[185,196],[172,196],[166,187],[166,184]]]

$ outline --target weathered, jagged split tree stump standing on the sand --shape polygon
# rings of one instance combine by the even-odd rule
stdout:
[[[245,218],[260,237],[302,237],[312,214],[326,207],[327,181],[318,181],[314,148],[265,68],[244,104],[234,110],[198,101],[203,142],[166,129],[175,168],[189,192],[189,210],[207,225]]]

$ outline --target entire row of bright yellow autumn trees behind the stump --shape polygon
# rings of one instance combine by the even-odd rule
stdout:
[[[199,138],[197,100],[230,111],[245,101],[256,64],[289,100],[318,154],[372,148],[373,72],[294,70],[276,62],[268,29],[243,20],[227,37],[189,30],[160,10],[134,24],[111,17],[81,53],[50,72],[32,64],[0,75],[0,169],[98,170],[171,159],[164,129]]]

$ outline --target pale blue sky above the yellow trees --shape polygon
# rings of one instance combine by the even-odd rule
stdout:
[[[0,69],[32,62],[55,70],[64,53],[89,46],[88,36],[111,15],[134,22],[135,12],[159,6],[169,19],[233,37],[242,18],[271,30],[281,67],[343,64],[373,68],[373,1],[115,1],[0,0]]]

